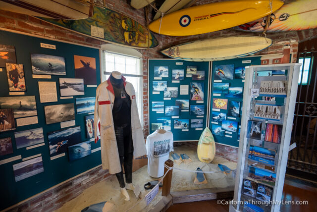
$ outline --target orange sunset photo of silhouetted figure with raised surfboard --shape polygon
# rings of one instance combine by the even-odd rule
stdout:
[[[96,58],[74,55],[75,78],[84,79],[85,85],[97,85]]]

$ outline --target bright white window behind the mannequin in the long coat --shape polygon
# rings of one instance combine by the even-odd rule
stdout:
[[[132,83],[141,125],[143,126],[143,75],[141,58],[103,51],[103,61],[105,68],[102,74],[103,82],[108,79],[112,71],[119,71],[128,82]]]

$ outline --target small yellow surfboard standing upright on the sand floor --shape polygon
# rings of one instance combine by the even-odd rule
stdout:
[[[216,154],[216,146],[213,136],[208,127],[206,127],[199,138],[197,146],[197,155],[200,161],[210,163]]]

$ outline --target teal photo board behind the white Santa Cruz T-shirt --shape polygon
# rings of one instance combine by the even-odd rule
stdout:
[[[203,129],[207,126],[207,112],[208,112],[208,100],[209,100],[209,62],[190,62],[184,60],[175,59],[149,59],[149,132],[150,134],[155,131],[158,127],[163,127],[164,129],[170,130],[173,133],[174,141],[197,141],[199,140]],[[187,66],[196,66],[197,74],[187,75]],[[161,67],[161,68],[159,68]],[[168,74],[166,73],[168,69]],[[180,70],[174,71],[173,70]],[[184,70],[184,79],[179,81],[177,79],[177,73]],[[201,72],[205,71],[205,77],[202,78]],[[161,79],[159,77],[159,72],[161,72]],[[165,73],[163,73],[165,72]],[[188,76],[188,77],[187,77]],[[181,77],[180,77],[181,78]],[[157,84],[160,82],[159,84]],[[164,88],[159,88],[160,84],[166,82],[167,88],[177,88],[177,92],[174,90],[157,91],[164,90]],[[199,83],[199,84],[197,84]],[[204,88],[202,88],[202,83]],[[188,85],[188,94],[181,95],[181,85]],[[197,92],[191,94],[191,87],[198,88]],[[165,85],[162,85],[164,87]],[[193,88],[193,89],[196,89]],[[184,90],[183,90],[184,91]],[[177,93],[177,98],[173,98]],[[200,94],[204,95],[204,100],[200,100]],[[199,95],[197,95],[199,94]],[[172,96],[170,99],[168,96]],[[195,99],[195,100],[191,100]],[[182,100],[182,101],[178,101]],[[188,100],[188,108],[186,108],[186,103],[183,100]],[[161,110],[161,104],[156,102],[163,102],[163,112],[156,111]],[[179,108],[172,108],[170,106],[179,106]],[[167,109],[165,108],[167,106]],[[192,110],[191,110],[192,108]],[[166,109],[166,113],[165,113]],[[178,110],[178,115],[175,115],[176,110]],[[204,114],[203,111],[204,110]],[[174,114],[174,115],[173,115]],[[168,120],[170,120],[170,127],[168,126]],[[202,122],[201,122],[202,121]],[[175,124],[174,124],[175,122]],[[185,124],[186,123],[186,124]]]

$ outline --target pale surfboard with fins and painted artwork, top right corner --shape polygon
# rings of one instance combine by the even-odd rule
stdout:
[[[234,27],[245,32],[263,32],[266,17]],[[296,31],[317,27],[317,0],[297,0],[271,14],[266,32]]]

